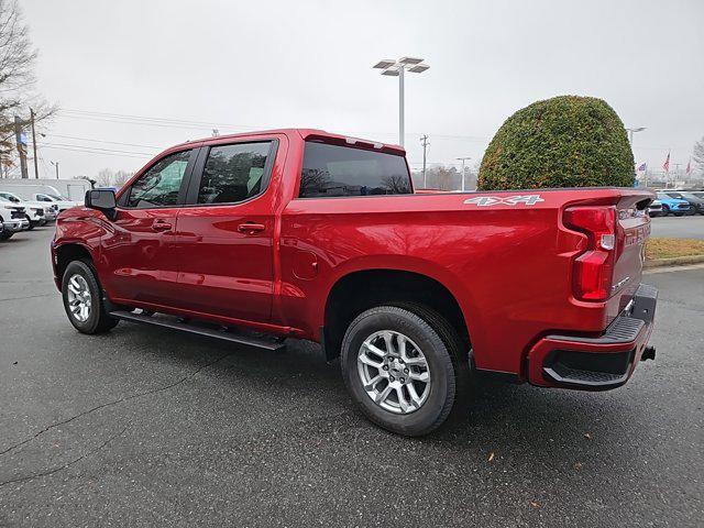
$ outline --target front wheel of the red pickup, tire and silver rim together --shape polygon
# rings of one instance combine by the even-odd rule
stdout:
[[[66,266],[62,296],[68,320],[79,332],[102,333],[119,322],[106,311],[98,275],[88,262],[74,261]]]

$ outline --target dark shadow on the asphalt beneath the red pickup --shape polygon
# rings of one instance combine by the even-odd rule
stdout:
[[[286,352],[273,353],[134,324],[123,323],[111,333],[108,339],[125,339],[140,353],[148,351],[185,364],[215,361],[208,366],[212,383],[224,384],[218,389],[232,392],[235,399],[239,391],[250,391],[267,395],[272,409],[296,398],[312,400],[312,405],[320,402],[319,418],[329,422],[331,433],[355,430],[355,435],[380,442],[486,453],[519,449],[526,455],[548,460],[556,451],[586,453],[596,438],[600,442],[623,442],[625,418],[631,425],[638,422],[637,413],[642,409],[625,394],[628,387],[583,393],[480,382],[471,400],[458,407],[438,431],[408,439],[383,431],[362,416],[348,396],[339,363],[327,364],[316,343],[288,340]],[[274,386],[277,391],[271,392]],[[642,427],[646,424],[644,418]],[[306,422],[299,425],[299,432],[306,435]]]

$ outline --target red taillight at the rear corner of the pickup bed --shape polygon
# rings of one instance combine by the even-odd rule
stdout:
[[[574,297],[580,300],[606,300],[610,297],[616,260],[616,208],[570,207],[564,224],[586,234],[587,251],[574,260]]]

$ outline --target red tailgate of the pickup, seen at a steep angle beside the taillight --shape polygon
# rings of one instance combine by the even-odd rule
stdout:
[[[608,318],[615,318],[634,297],[645,261],[645,244],[650,237],[650,198],[642,193],[623,191],[616,205],[616,262],[612,283],[612,298],[608,301]]]

